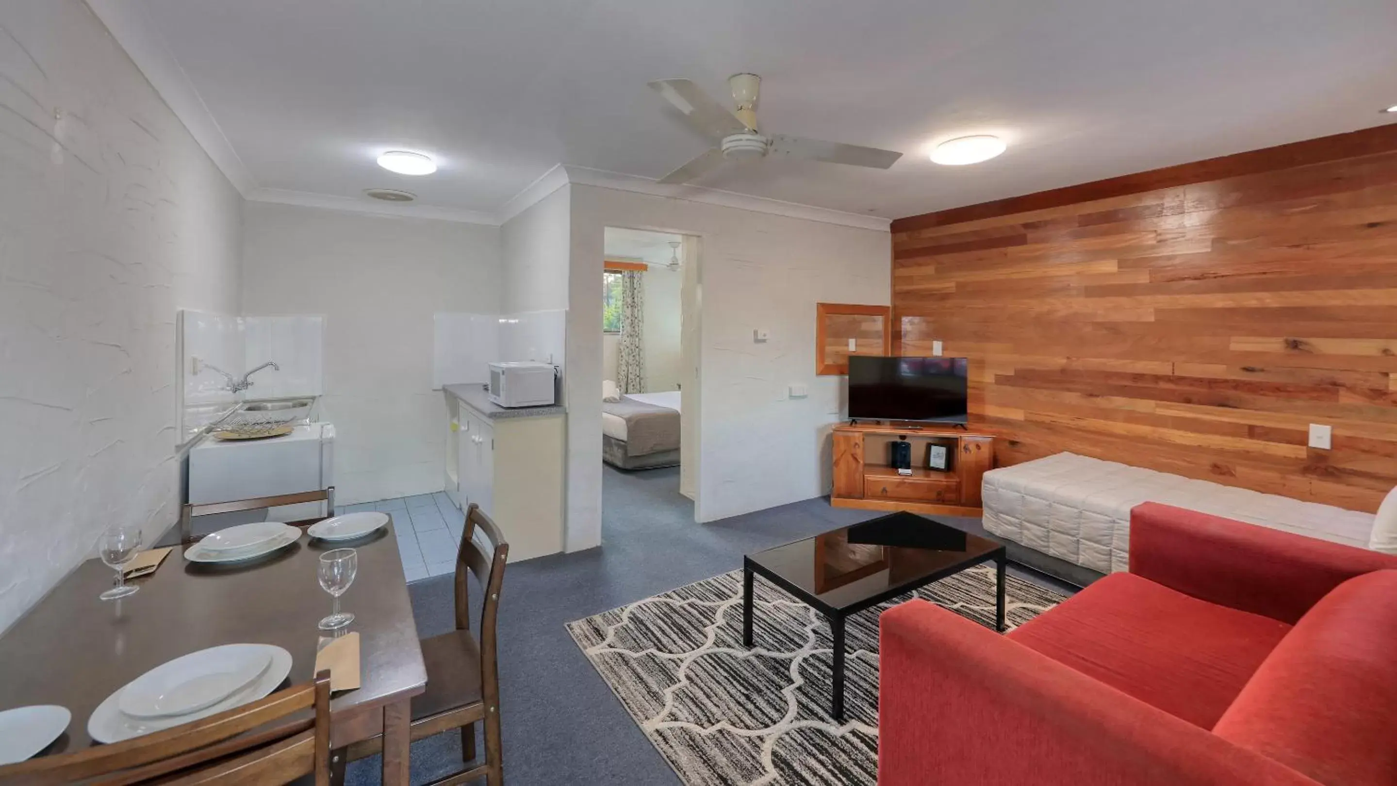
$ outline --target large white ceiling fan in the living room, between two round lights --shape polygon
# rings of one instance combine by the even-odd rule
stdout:
[[[902,158],[900,152],[877,148],[785,134],[763,134],[757,126],[757,94],[761,89],[761,77],[756,74],[728,77],[732,101],[738,106],[736,112],[729,112],[690,80],[658,80],[650,82],[650,87],[675,109],[683,112],[689,124],[714,144],[712,149],[661,177],[661,183],[687,183],[718,169],[728,161],[742,162],[768,155],[870,166],[873,169],[887,169]]]

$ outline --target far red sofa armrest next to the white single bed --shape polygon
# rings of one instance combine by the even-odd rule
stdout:
[[[1292,625],[1329,591],[1383,568],[1397,556],[1160,503],[1130,511],[1130,572]]]

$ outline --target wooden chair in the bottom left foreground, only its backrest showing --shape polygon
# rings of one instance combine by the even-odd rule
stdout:
[[[293,715],[314,708],[314,715]],[[173,729],[0,766],[3,786],[330,783],[330,672]]]

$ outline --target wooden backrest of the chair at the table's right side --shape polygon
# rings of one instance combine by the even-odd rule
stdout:
[[[500,586],[504,585],[504,564],[510,544],[490,517],[471,503],[465,511],[465,529],[455,556],[455,630],[471,630],[471,593],[467,571],[475,574],[485,593],[481,602],[481,692],[488,706],[499,706],[500,677],[496,662],[496,617],[500,607]]]

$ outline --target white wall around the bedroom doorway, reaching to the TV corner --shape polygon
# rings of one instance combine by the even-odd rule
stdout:
[[[712,521],[817,497],[830,484],[840,377],[814,376],[814,304],[886,304],[891,236],[735,208],[571,186],[569,549],[601,542],[599,288],[606,225],[701,237],[698,494]],[[588,274],[588,275],[583,275]],[[585,278],[585,286],[581,279]],[[771,331],[753,343],[754,328]],[[810,395],[791,399],[787,385]],[[687,403],[686,403],[687,408]]]

